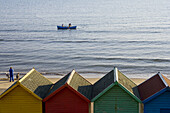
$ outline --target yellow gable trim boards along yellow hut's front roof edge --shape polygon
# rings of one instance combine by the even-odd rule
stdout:
[[[19,81],[16,81],[14,84],[12,84],[7,90],[5,90],[1,95],[0,98],[3,98],[6,94],[8,94],[10,91],[15,89],[17,86],[21,86],[25,91],[27,91],[29,94],[33,95],[38,100],[42,100],[39,96],[37,96],[35,93],[24,87],[22,84],[20,84]]]

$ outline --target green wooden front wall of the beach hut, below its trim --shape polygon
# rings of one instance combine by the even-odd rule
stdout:
[[[139,113],[139,102],[115,85],[94,102],[94,113]]]

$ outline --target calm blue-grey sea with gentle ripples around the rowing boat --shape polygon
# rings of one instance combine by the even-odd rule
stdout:
[[[77,30],[57,30],[57,25]],[[170,77],[170,0],[0,0],[0,72]]]

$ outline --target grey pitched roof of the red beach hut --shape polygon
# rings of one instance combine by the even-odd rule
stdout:
[[[91,85],[92,84],[89,81],[87,81],[85,78],[79,75],[75,70],[73,70],[52,86],[52,88],[48,93],[47,98],[50,98],[52,95],[57,93],[58,92],[57,90],[59,90],[61,87],[70,86],[75,91],[81,93],[83,96],[90,99],[91,91],[92,91]],[[47,98],[45,99],[45,101],[48,100]]]

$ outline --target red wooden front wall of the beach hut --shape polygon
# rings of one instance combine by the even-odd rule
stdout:
[[[65,87],[45,102],[45,113],[89,113],[89,104]]]

